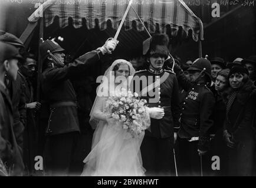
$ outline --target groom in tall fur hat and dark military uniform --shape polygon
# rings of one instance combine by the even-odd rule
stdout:
[[[169,54],[166,47],[168,41],[169,38],[166,35],[154,35],[146,53],[149,68],[137,71],[134,75],[134,78],[139,76],[142,80],[140,80],[140,97],[147,100],[149,108],[164,109],[162,119],[150,119],[150,130],[145,131],[140,148],[146,176],[170,176],[174,165],[173,145],[179,128],[179,86],[175,74],[169,70],[163,70],[163,64]],[[145,83],[142,83],[145,79],[142,78],[145,76],[147,92],[142,93],[142,90],[145,90]],[[153,86],[153,89],[150,89],[152,83],[159,81],[159,86]],[[138,92],[137,89],[134,91]],[[155,95],[152,95],[152,92]]]

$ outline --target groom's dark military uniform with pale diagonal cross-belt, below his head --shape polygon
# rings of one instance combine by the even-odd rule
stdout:
[[[179,129],[179,86],[175,74],[169,70],[140,70],[135,73],[136,76],[146,76],[147,86],[150,85],[149,77],[152,76],[152,83],[161,80],[164,75],[168,75],[160,86],[153,89],[156,92],[157,101],[149,102],[149,99],[155,96],[142,96],[146,99],[149,107],[161,107],[165,110],[165,116],[162,119],[150,119],[150,131],[145,131],[145,137],[142,142],[141,152],[143,167],[146,169],[146,175],[170,175],[173,152],[173,135],[175,129]],[[140,90],[142,90],[142,83]]]

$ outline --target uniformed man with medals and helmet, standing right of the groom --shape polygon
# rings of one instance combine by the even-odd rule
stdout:
[[[178,66],[175,66],[175,72],[180,86],[187,91],[180,113],[178,167],[182,174],[200,176],[203,161],[199,155],[208,151],[208,130],[213,125],[210,117],[215,99],[206,86],[211,83],[211,63],[205,58],[196,59],[188,68],[190,80]]]

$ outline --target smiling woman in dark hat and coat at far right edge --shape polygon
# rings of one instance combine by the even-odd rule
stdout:
[[[224,140],[227,147],[227,175],[251,176],[255,163],[256,89],[242,66],[233,66],[228,75],[230,92]]]

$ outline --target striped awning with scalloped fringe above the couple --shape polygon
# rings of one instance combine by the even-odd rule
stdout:
[[[68,18],[71,17],[74,28],[80,28],[82,18],[85,18],[88,29],[95,28],[96,24],[99,24],[100,29],[106,29],[108,20],[111,21],[113,28],[117,29],[128,4],[128,0],[48,0],[28,20],[36,22],[40,9],[44,12],[46,27],[54,22],[55,16],[58,16],[60,28],[67,26]],[[201,20],[182,0],[133,0],[132,6],[140,19],[147,23],[149,32],[153,33],[156,29],[165,32],[166,25],[170,25],[172,35],[175,36],[181,26],[186,35],[190,29],[192,30],[194,41],[204,39]],[[98,23],[96,19],[99,20]],[[130,8],[124,22],[125,28],[131,29],[133,21],[136,21],[138,31],[145,29],[133,9]]]

